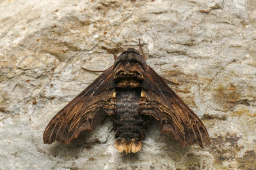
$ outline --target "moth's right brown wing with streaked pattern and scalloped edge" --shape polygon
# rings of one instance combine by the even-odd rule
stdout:
[[[159,120],[161,132],[170,132],[183,146],[209,145],[210,138],[200,118],[149,66],[146,74],[141,87],[140,113]]]

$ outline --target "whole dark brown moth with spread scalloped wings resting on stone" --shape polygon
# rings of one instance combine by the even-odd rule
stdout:
[[[209,145],[204,124],[173,92],[145,59],[129,48],[113,66],[67,104],[44,131],[44,143],[68,144],[81,131],[93,131],[100,113],[113,117],[119,152],[138,152],[145,137],[145,117],[159,120],[160,131],[170,132],[183,146]]]

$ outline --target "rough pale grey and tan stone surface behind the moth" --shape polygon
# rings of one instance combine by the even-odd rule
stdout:
[[[255,9],[254,0],[0,1],[0,169],[255,169]],[[109,118],[67,146],[44,145],[49,120],[99,76],[81,67],[108,68],[102,46],[120,54],[138,38],[148,65],[179,82],[170,86],[211,146],[182,147],[152,119],[141,151],[125,155]]]

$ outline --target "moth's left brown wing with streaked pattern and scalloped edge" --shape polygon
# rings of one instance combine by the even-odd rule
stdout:
[[[59,141],[68,144],[81,131],[93,131],[93,121],[102,106],[115,92],[113,66],[102,73],[92,84],[59,111],[44,131],[44,143]]]

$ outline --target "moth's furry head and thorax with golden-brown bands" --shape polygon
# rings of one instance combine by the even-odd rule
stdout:
[[[145,59],[134,48],[128,48],[115,60],[114,80],[135,80],[143,81],[145,79]]]

